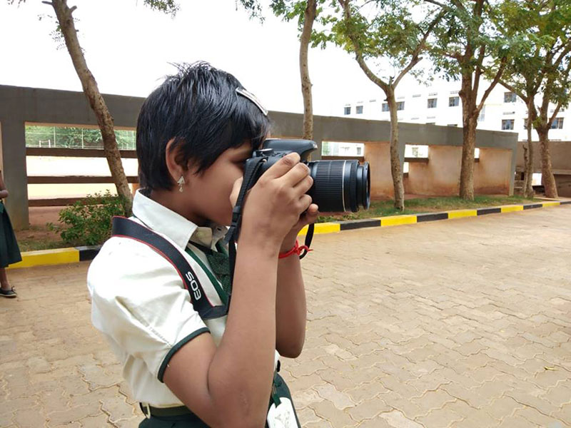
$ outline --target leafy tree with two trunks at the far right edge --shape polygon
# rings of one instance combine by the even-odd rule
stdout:
[[[532,128],[540,136],[542,176],[545,194],[557,198],[551,170],[548,132],[557,113],[570,101],[571,7],[557,0],[505,4],[505,31],[521,39],[520,49],[500,80],[527,106],[527,146],[524,146],[524,189],[532,197],[533,146]],[[541,93],[540,106],[535,99]],[[547,113],[550,102],[553,114]]]

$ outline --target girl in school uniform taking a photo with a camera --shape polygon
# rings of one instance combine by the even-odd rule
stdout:
[[[132,220],[180,251],[213,305],[228,300],[228,267],[213,261],[226,251],[223,226],[269,131],[256,98],[208,63],[181,66],[139,114]],[[101,248],[88,274],[92,320],[141,402],[140,427],[266,424],[268,400],[285,387],[276,353],[297,357],[305,339],[300,261],[278,255],[317,216],[308,172],[290,154],[248,193],[227,317],[202,320],[176,269],[148,245],[113,237]]]

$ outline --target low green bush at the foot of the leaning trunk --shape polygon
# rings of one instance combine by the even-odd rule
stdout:
[[[55,230],[67,245],[99,245],[111,236],[113,215],[125,215],[123,198],[106,193],[87,195],[59,212],[59,221],[64,225],[48,223],[49,230]]]

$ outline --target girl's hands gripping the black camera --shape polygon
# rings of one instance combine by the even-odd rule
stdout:
[[[240,185],[241,180],[234,184],[232,203],[236,203]],[[281,248],[286,235],[288,238],[297,236],[304,225],[317,217],[317,205],[312,204],[311,197],[305,194],[312,185],[309,168],[300,163],[297,153],[281,158],[249,191],[248,202],[244,205],[242,233],[252,233],[258,240]],[[308,212],[304,213],[305,210]]]

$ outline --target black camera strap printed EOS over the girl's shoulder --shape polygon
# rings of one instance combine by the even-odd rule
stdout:
[[[113,217],[113,230],[111,236],[131,238],[148,245],[151,250],[165,258],[175,268],[186,290],[191,295],[191,302],[203,320],[223,317],[228,314],[228,305],[213,305],[204,292],[198,277],[186,258],[174,245],[153,230],[146,228],[128,218]]]

